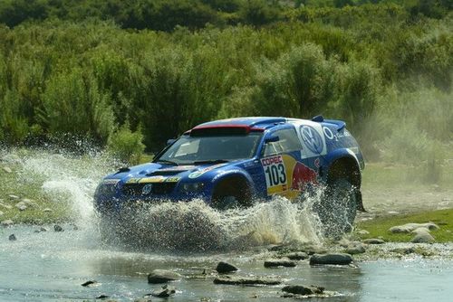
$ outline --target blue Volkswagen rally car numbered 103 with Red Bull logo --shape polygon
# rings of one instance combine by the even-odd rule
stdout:
[[[201,198],[218,210],[250,206],[275,194],[298,198],[317,184],[327,187],[317,208],[330,224],[344,210],[351,225],[361,204],[361,150],[340,120],[230,118],[194,127],[151,163],[121,168],[96,189],[102,217],[131,203],[185,202]],[[343,231],[350,228],[345,227]]]

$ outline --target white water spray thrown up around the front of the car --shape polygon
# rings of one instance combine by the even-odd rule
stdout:
[[[11,155],[9,155],[11,156]],[[5,157],[5,156],[4,156]],[[34,177],[36,184],[53,203],[62,200],[72,205],[74,221],[92,230],[99,220],[92,195],[103,175],[113,170],[106,156],[72,156],[46,151],[29,151],[13,156],[22,165],[22,178]],[[241,250],[270,243],[322,241],[319,219],[311,211],[320,193],[304,203],[292,203],[283,197],[256,201],[247,209],[218,212],[201,200],[189,203],[146,204],[108,222],[101,230],[119,233],[131,247],[146,250],[203,251]]]

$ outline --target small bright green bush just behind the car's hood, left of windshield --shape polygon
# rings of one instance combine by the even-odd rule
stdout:
[[[117,131],[111,134],[107,143],[107,150],[112,156],[129,165],[140,163],[140,157],[145,150],[142,143],[143,135],[138,129],[130,131],[129,123],[125,123]]]

